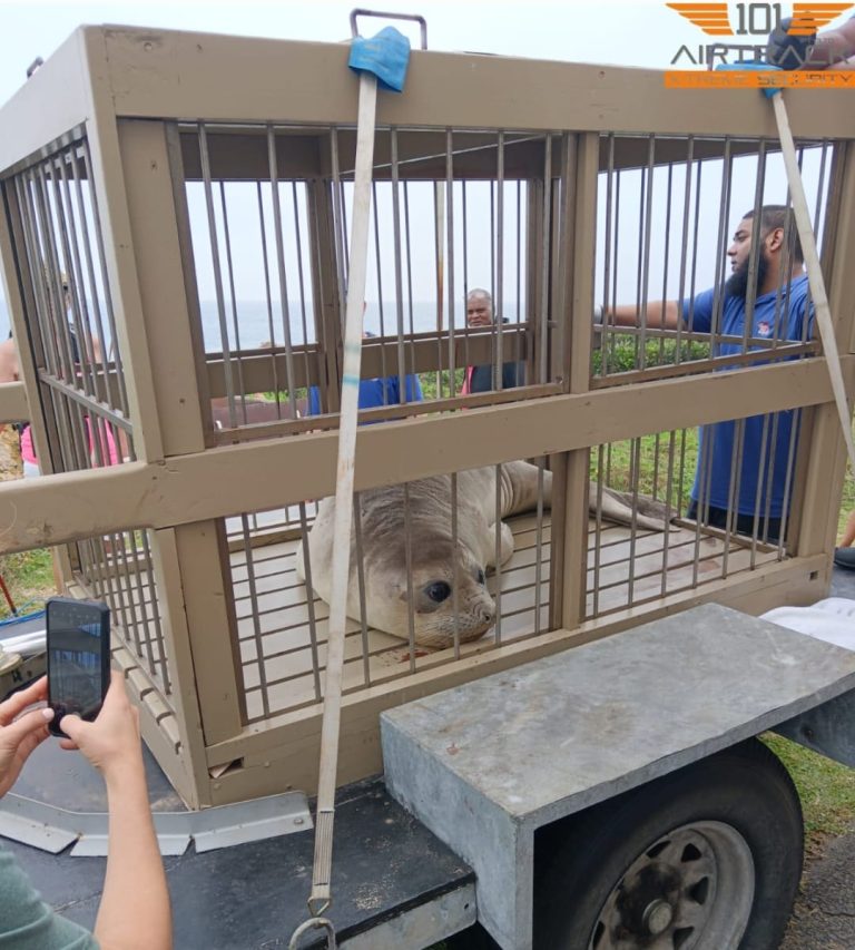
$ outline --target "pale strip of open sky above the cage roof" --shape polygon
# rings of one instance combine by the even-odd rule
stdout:
[[[735,22],[738,4],[729,6]],[[27,67],[36,57],[47,59],[81,23],[340,41],[350,37],[352,8],[352,2],[336,0],[149,0],[147,3],[0,0],[0,104],[23,84]],[[395,0],[391,3],[384,0],[381,8],[425,16],[429,48],[445,51],[664,69],[682,45],[697,47],[705,41],[700,29],[668,9],[665,0]],[[784,13],[788,12],[788,4],[784,4]],[[366,27],[364,32],[373,31]],[[411,36],[415,41],[415,29]],[[2,294],[0,286],[0,323],[4,322]],[[3,326],[0,334],[6,335]]]

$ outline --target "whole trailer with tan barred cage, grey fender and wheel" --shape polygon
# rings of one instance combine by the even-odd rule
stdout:
[[[330,627],[305,542],[335,490],[356,90],[341,45],[85,27],[0,110],[20,363],[0,418],[29,421],[43,472],[0,486],[0,550],[52,546],[66,591],[112,608],[181,947],[282,946],[307,895]],[[851,401],[849,104],[786,95]],[[505,950],[773,950],[802,821],[755,737],[852,764],[853,654],[751,616],[832,580],[828,347],[809,321],[735,340],[610,314],[716,285],[735,221],[788,204],[774,112],[750,90],[700,108],[653,70],[415,51],[374,138],[362,378],[399,385],[360,410],[382,424],[358,430],[355,488],[399,492],[403,619],[371,621],[357,515],[340,941],[429,947],[478,921]],[[488,326],[466,322],[474,288]],[[471,392],[476,365],[492,385]],[[746,531],[709,517],[696,432],[731,427],[737,497],[751,420],[774,451]],[[503,522],[501,467],[523,459],[533,501]],[[473,469],[494,473],[493,623],[470,639],[455,608],[426,644],[416,487],[443,487],[458,541]],[[49,755],[3,833],[100,853],[89,778],[68,783],[88,807],[50,801]],[[14,850],[91,920],[99,864]]]

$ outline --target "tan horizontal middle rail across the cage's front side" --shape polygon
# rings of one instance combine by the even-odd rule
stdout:
[[[842,362],[852,392],[855,356]],[[681,429],[738,418],[747,404],[757,414],[819,405],[832,398],[827,376],[822,361],[803,360],[371,427],[360,433],[356,490],[442,474],[451,458],[455,469],[470,469],[631,439],[649,432],[651,420],[662,429]],[[504,438],[509,431],[512,443]],[[131,462],[9,482],[0,487],[3,547],[23,550],[39,540],[58,545],[111,528],[202,522],[239,515],[249,500],[254,510],[265,510],[323,498],[335,488],[336,438],[316,432],[258,439],[158,464]]]

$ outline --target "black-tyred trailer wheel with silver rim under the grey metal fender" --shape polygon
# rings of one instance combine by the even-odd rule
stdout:
[[[777,950],[802,807],[756,740],[538,832],[534,946]]]

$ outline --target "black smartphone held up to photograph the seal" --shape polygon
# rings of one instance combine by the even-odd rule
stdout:
[[[99,600],[50,597],[47,603],[49,729],[65,736],[62,717],[91,722],[110,685],[110,608]]]

